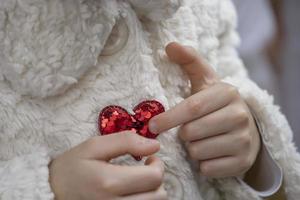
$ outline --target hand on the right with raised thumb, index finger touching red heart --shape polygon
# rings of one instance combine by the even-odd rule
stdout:
[[[205,176],[244,174],[260,149],[259,133],[247,104],[192,48],[171,43],[166,52],[189,76],[192,95],[152,118],[150,130],[162,133],[181,125],[179,136],[190,157],[200,161],[200,172]]]

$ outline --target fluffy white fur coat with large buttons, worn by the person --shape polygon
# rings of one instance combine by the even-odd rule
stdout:
[[[119,22],[126,45],[101,55]],[[169,108],[183,100],[189,82],[166,58],[170,41],[195,47],[239,88],[283,169],[288,198],[299,199],[292,132],[272,97],[247,77],[235,24],[230,0],[0,0],[0,199],[53,199],[50,160],[97,135],[103,107],[131,110],[157,99]],[[235,178],[198,175],[176,130],[159,140],[170,199],[260,199]],[[116,162],[136,163],[130,156]]]

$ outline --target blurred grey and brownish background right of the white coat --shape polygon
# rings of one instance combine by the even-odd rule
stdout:
[[[239,53],[250,77],[274,95],[300,150],[300,0],[233,0]]]

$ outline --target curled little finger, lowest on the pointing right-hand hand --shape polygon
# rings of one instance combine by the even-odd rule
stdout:
[[[241,162],[238,157],[222,157],[200,162],[200,173],[210,178],[240,176],[248,166],[248,161]]]

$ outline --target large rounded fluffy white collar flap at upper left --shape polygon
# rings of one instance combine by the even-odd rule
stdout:
[[[0,73],[20,94],[63,93],[95,66],[117,14],[115,1],[1,0]]]

